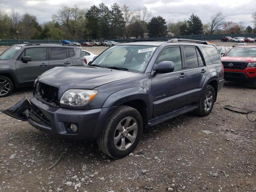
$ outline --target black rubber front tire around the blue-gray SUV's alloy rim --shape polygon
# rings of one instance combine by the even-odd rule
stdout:
[[[130,146],[128,146],[127,149],[122,150],[117,148],[116,144],[114,143],[114,137],[116,132],[118,132],[118,124],[121,123],[125,118],[133,118],[136,120],[134,122],[137,122],[137,133],[134,141],[130,144]],[[124,128],[124,126],[122,126],[122,128]],[[122,158],[127,156],[138,145],[142,135],[142,129],[143,121],[140,113],[130,106],[119,106],[117,110],[110,116],[100,138],[97,139],[98,147],[104,154],[112,158]],[[130,134],[132,134],[132,132],[130,132]],[[122,137],[122,134],[120,137]],[[127,138],[123,137],[123,139],[129,144],[129,140]],[[120,138],[120,144],[121,141],[122,138]]]

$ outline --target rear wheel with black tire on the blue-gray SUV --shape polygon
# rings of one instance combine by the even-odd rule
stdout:
[[[211,92],[211,96],[212,99],[211,100],[207,100],[208,103],[210,103],[210,101],[212,101],[211,105],[209,106],[208,104],[206,104],[206,97],[210,98],[209,92]],[[212,111],[212,108],[214,106],[214,101],[215,101],[215,90],[211,85],[208,85],[204,95],[202,96],[202,98],[199,101],[199,107],[195,110],[196,114],[198,114],[199,116],[208,116],[210,114],[210,112]],[[207,109],[206,109],[207,108]]]

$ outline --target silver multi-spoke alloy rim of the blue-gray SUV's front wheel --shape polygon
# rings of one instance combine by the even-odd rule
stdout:
[[[126,150],[132,146],[138,134],[138,123],[133,117],[122,119],[116,126],[114,144],[118,150]]]

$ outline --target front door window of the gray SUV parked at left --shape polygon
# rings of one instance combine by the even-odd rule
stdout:
[[[47,56],[47,48],[26,48],[25,56],[30,56],[31,61],[45,61]]]

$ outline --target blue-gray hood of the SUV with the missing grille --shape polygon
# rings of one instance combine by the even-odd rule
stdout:
[[[138,73],[100,68],[84,67],[55,67],[44,72],[38,81],[67,89],[94,89],[103,84],[138,76]]]

